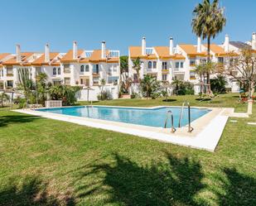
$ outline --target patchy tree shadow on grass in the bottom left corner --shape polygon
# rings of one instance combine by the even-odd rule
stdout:
[[[57,199],[47,193],[47,184],[34,176],[27,176],[22,184],[9,181],[0,189],[0,205],[75,205],[72,197]]]

